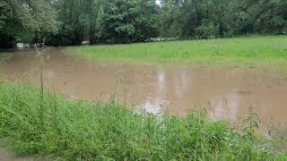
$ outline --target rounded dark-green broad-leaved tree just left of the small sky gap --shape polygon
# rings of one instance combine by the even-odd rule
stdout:
[[[109,43],[140,42],[157,37],[155,0],[107,0],[102,37]]]

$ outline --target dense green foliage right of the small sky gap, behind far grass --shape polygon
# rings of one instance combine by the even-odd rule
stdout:
[[[162,35],[210,38],[285,34],[285,0],[162,0]]]

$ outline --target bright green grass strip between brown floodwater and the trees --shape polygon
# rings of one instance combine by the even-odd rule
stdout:
[[[104,62],[172,64],[287,64],[287,36],[253,36],[131,45],[67,47]]]

